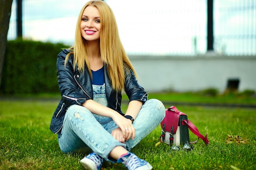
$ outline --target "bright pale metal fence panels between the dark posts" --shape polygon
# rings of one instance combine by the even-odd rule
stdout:
[[[207,0],[105,1],[115,13],[129,55],[194,56],[207,52]],[[214,51],[222,55],[256,55],[256,0],[213,2]],[[23,38],[72,45],[84,3],[23,0]],[[13,0],[8,40],[17,37],[16,8]]]

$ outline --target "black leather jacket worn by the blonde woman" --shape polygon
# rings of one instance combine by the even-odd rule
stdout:
[[[54,112],[50,125],[50,130],[54,133],[61,130],[63,119],[69,106],[74,104],[81,105],[86,100],[93,99],[92,79],[90,78],[87,66],[85,66],[84,73],[80,72],[77,66],[74,69],[73,55],[70,55],[66,66],[64,65],[65,58],[69,52],[64,49],[57,57],[57,77],[62,99]],[[124,115],[121,111],[122,95],[120,92],[112,89],[106,66],[104,66],[104,69],[108,107]],[[138,100],[144,104],[148,99],[148,94],[138,84],[132,70],[130,70],[130,73],[125,71],[125,76],[124,90],[129,100]]]

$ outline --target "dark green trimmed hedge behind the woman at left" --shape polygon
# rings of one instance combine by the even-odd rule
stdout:
[[[64,44],[13,40],[7,42],[0,92],[35,94],[59,92],[56,58]]]

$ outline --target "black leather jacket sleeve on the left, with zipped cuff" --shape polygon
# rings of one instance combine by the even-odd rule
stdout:
[[[86,95],[81,91],[81,87],[76,81],[76,74],[74,72],[72,57],[69,56],[68,62],[65,65],[65,58],[70,51],[63,50],[57,57],[57,77],[58,86],[61,92],[62,100],[67,107],[78,104],[81,105],[87,99],[90,99],[89,95]]]

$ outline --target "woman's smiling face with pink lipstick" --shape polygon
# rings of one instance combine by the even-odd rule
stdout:
[[[94,6],[86,7],[81,20],[82,37],[87,41],[99,40],[101,35],[99,10]]]

